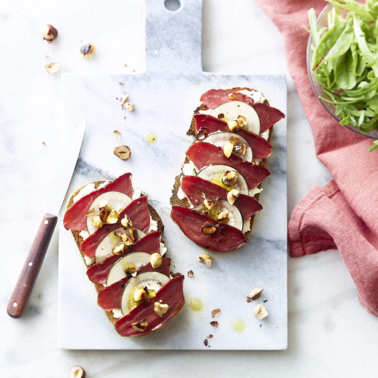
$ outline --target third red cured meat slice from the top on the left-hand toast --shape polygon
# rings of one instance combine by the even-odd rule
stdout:
[[[147,252],[150,254],[160,252],[160,239],[161,231],[154,231],[142,239],[135,242],[130,249],[130,252]],[[112,254],[107,257],[104,261],[101,261],[95,265],[92,265],[87,269],[87,276],[95,284],[105,284],[106,277],[108,276],[109,270],[112,265],[119,259],[121,256]]]

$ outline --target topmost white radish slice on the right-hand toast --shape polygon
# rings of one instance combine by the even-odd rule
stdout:
[[[244,116],[247,119],[247,126],[242,127],[244,130],[253,132],[254,134],[260,133],[260,119],[256,111],[251,105],[242,101],[228,101],[213,109],[210,113],[211,116],[219,118],[224,122],[234,120],[238,116]]]

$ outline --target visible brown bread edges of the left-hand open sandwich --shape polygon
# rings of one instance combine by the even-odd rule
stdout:
[[[101,184],[104,184],[106,181],[105,180],[97,180],[97,181],[92,181],[92,182],[89,182],[83,186],[81,186],[80,188],[76,189],[72,194],[71,196],[68,198],[68,201],[67,201],[67,204],[66,204],[66,207],[65,209],[68,210],[73,204],[74,204],[74,197],[79,194],[79,192],[84,189],[87,185],[90,185],[90,184],[94,184],[95,185],[95,189],[98,189],[99,186]],[[144,196],[145,194],[141,193],[141,197]],[[161,218],[159,217],[157,211],[149,204],[147,203],[147,206],[148,206],[148,211],[150,213],[150,216],[151,216],[151,219],[156,221],[157,224],[158,224],[158,231],[163,231],[164,229],[164,226],[163,226],[163,222],[161,221]],[[83,259],[83,262],[85,264],[85,266],[87,267],[87,269],[91,266],[91,265],[88,265],[87,262],[85,261],[85,254],[84,252],[81,250],[80,246],[81,246],[81,243],[83,242],[83,237],[80,235],[80,232],[81,230],[71,230],[71,233],[72,233],[72,236],[73,238],[75,239],[75,243],[77,245],[77,248],[79,249],[79,252],[81,254],[81,257]],[[161,240],[162,242],[162,240]],[[96,292],[97,292],[97,295],[98,293],[104,289],[104,286],[102,284],[94,284],[95,285],[95,289],[96,289]],[[112,310],[104,310],[106,316],[108,317],[109,321],[114,325],[115,322],[119,319],[119,318],[116,318],[113,316],[113,311]],[[144,334],[140,335],[140,336],[144,336]]]

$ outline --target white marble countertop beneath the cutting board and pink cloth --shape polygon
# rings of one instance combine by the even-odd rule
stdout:
[[[58,29],[54,43],[42,40],[45,23]],[[143,71],[143,28],[142,1],[20,0],[1,7],[0,193],[5,200],[0,229],[5,244],[1,377],[68,377],[69,368],[77,364],[91,378],[117,378],[130,372],[141,377],[170,377],[178,372],[181,377],[376,375],[378,321],[358,302],[337,251],[288,259],[288,349],[284,351],[59,349],[58,229],[25,315],[13,319],[6,314],[59,157],[60,74]],[[307,190],[325,184],[330,175],[315,158],[310,126],[285,64],[282,37],[251,0],[203,0],[202,35],[205,71],[286,75],[289,217]],[[93,60],[80,56],[81,41],[95,43]],[[62,65],[55,75],[43,68],[50,62]]]

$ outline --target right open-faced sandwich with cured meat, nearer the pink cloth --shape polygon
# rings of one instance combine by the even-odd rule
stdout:
[[[171,218],[194,243],[233,251],[248,242],[261,182],[272,153],[273,125],[284,114],[249,88],[212,89],[200,98],[171,197]]]

